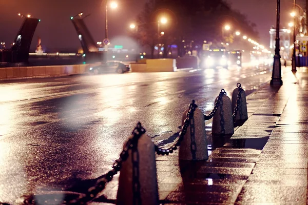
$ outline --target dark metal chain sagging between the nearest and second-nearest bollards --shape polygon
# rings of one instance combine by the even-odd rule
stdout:
[[[174,150],[177,150],[178,147],[181,145],[181,142],[184,139],[184,135],[187,132],[187,128],[189,126],[189,121],[194,117],[194,112],[198,106],[195,104],[195,100],[193,99],[191,101],[191,104],[189,105],[189,110],[186,114],[186,118],[184,120],[184,125],[181,128],[180,135],[176,138],[174,144],[170,146],[168,149],[163,149],[155,145],[155,151],[157,154],[161,155],[168,155],[169,153],[172,153]]]

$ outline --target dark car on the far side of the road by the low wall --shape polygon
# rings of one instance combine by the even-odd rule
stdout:
[[[89,68],[89,72],[95,75],[103,73],[125,73],[130,70],[129,64],[125,64],[119,60],[108,60],[102,62],[101,65],[93,66]]]

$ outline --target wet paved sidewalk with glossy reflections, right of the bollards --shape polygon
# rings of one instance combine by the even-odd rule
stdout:
[[[249,95],[248,120],[230,139],[214,138],[206,162],[158,156],[162,203],[307,204],[307,83],[299,68],[282,87]]]

